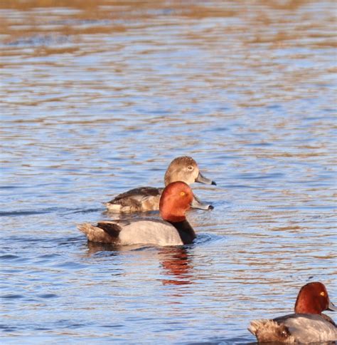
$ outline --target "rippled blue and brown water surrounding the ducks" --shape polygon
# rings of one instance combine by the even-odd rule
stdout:
[[[1,1],[1,342],[246,344],[306,282],[337,301],[335,10]],[[87,243],[178,155],[218,182],[194,244]]]

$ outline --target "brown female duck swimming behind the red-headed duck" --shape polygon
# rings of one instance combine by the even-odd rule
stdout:
[[[171,182],[183,181],[188,185],[193,182],[216,185],[212,180],[201,175],[198,164],[191,157],[183,156],[172,160],[164,176],[165,185]],[[114,212],[145,212],[159,210],[159,200],[164,188],[139,187],[117,195],[105,205],[109,211]],[[194,196],[196,198],[196,196]],[[212,210],[212,205],[202,204],[199,207],[202,210]]]

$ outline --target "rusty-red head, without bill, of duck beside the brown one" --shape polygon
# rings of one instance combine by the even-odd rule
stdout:
[[[191,188],[181,181],[167,185],[161,193],[159,211],[163,220],[168,222],[183,222],[186,220],[185,213],[193,203]]]

